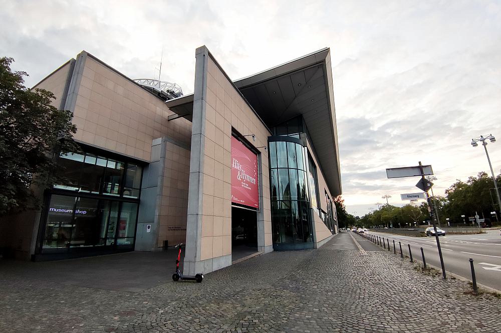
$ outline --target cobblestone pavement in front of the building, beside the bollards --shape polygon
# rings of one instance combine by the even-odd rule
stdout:
[[[0,331],[501,331],[501,300],[422,274],[393,252],[366,244],[365,253],[340,249],[345,237],[318,250],[255,257],[206,274],[202,283],[140,292],[0,270]]]

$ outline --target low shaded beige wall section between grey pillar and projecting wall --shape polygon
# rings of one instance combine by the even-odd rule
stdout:
[[[165,150],[157,247],[163,246],[164,240],[169,246],[186,240],[190,151],[171,142],[166,142]]]

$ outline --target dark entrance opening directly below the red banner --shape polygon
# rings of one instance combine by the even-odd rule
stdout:
[[[258,251],[258,214],[254,210],[231,207],[231,260]]]

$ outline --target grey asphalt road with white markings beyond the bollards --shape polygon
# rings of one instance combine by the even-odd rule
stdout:
[[[485,232],[487,233],[440,236],[445,270],[471,280],[469,258],[472,258],[477,282],[501,290],[501,236],[499,230],[485,230]],[[426,263],[440,267],[435,236],[412,237],[372,231],[368,233],[384,237],[385,240],[389,239],[391,250],[395,240],[397,252],[400,241],[405,255],[409,255],[408,244],[410,244],[414,260],[422,261],[420,249],[422,247]],[[355,237],[362,243],[370,242],[360,235]]]

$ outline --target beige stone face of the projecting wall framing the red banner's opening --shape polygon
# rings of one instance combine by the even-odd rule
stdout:
[[[271,133],[243,100],[211,56],[207,59],[200,260],[231,253],[231,127],[255,134],[255,147]],[[265,246],[272,245],[268,153],[261,148]]]

